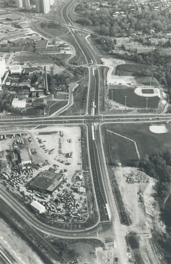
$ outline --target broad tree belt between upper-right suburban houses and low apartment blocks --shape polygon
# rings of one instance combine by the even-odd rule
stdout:
[[[126,8],[126,5],[125,5]],[[123,10],[124,8],[122,8]],[[85,10],[85,6],[82,4],[77,5],[76,11],[81,13],[81,18],[76,22],[82,25],[98,26],[98,31],[102,35],[116,36],[116,34],[127,33],[130,35],[134,31],[144,31],[146,33],[149,30],[154,29],[158,33],[161,29],[167,27],[171,30],[171,22],[169,18],[169,11],[167,9],[159,12],[142,10],[141,14],[134,14],[127,17],[118,16],[114,18],[109,10],[90,11]],[[81,12],[82,11],[82,12]],[[124,10],[123,10],[124,11]]]

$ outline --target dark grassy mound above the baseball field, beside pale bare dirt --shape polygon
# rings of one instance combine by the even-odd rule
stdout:
[[[116,75],[139,75],[143,70],[155,70],[155,66],[140,65],[135,63],[126,63],[118,65],[115,70]]]

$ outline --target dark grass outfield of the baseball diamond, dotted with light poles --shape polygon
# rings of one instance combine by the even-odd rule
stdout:
[[[123,86],[120,88],[120,86],[118,85],[114,85],[112,87],[116,87],[116,88],[109,89],[110,100],[112,100],[112,91],[113,91],[113,101],[125,105],[125,96],[127,96],[126,106],[146,108],[146,103],[147,103],[146,97],[136,95],[136,93],[134,92],[135,88],[132,87],[123,88]],[[160,98],[158,96],[149,97],[147,107],[157,108],[159,100]]]

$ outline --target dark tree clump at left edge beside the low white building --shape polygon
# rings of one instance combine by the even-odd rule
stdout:
[[[11,105],[13,95],[8,92],[7,88],[3,88],[0,92],[0,109],[1,111],[12,111],[13,107]]]

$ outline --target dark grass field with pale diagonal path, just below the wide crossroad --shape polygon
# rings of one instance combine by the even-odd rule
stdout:
[[[168,133],[156,134],[149,129],[150,124],[137,125],[110,125],[107,130],[135,140],[141,159],[144,155],[164,152],[171,148],[171,126],[166,124]],[[112,157],[122,164],[130,164],[137,159],[135,145],[128,139],[108,132],[109,145]]]

